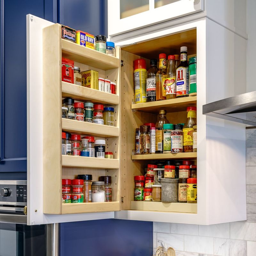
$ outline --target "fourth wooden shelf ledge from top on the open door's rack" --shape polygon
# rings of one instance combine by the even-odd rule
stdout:
[[[119,160],[86,156],[62,156],[62,167],[118,169]]]

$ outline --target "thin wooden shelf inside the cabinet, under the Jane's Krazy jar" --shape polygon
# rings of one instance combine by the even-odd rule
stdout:
[[[157,160],[157,159],[196,159],[196,152],[134,155],[132,160]]]

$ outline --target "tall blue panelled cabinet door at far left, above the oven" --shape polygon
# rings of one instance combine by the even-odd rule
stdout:
[[[57,22],[57,0],[0,1],[0,179],[26,179],[26,15]]]

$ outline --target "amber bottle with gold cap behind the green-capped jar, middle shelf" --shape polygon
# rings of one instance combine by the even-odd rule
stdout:
[[[156,122],[156,153],[163,153],[163,126],[164,124],[169,124],[170,122],[166,118],[166,111],[159,110],[159,119]]]

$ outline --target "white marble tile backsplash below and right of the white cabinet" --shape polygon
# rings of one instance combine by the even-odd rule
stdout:
[[[176,256],[256,256],[256,129],[246,130],[247,221],[217,225],[154,222],[157,246]]]

